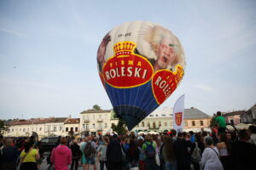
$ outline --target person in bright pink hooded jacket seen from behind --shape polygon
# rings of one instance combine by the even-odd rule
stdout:
[[[61,137],[60,144],[52,150],[50,161],[55,170],[68,170],[72,163],[72,151],[67,147],[67,138]]]

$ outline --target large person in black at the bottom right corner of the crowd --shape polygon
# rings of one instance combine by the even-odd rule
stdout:
[[[247,130],[240,130],[238,137],[239,140],[232,144],[233,169],[246,170],[256,167],[256,146],[248,142],[249,134]]]

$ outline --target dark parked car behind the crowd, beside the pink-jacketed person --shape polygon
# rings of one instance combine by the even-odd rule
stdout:
[[[38,142],[39,149],[45,151],[51,151],[57,144],[59,140],[58,136],[55,137],[45,137]]]

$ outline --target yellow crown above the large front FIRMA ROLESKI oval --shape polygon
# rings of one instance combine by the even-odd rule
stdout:
[[[113,51],[116,56],[129,55],[129,54],[133,53],[135,48],[136,48],[135,42],[130,42],[130,41],[117,42],[113,46]]]

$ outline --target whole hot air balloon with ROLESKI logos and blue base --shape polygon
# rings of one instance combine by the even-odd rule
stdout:
[[[113,111],[129,130],[174,92],[185,65],[177,37],[150,21],[126,22],[113,28],[97,51],[102,84]]]

